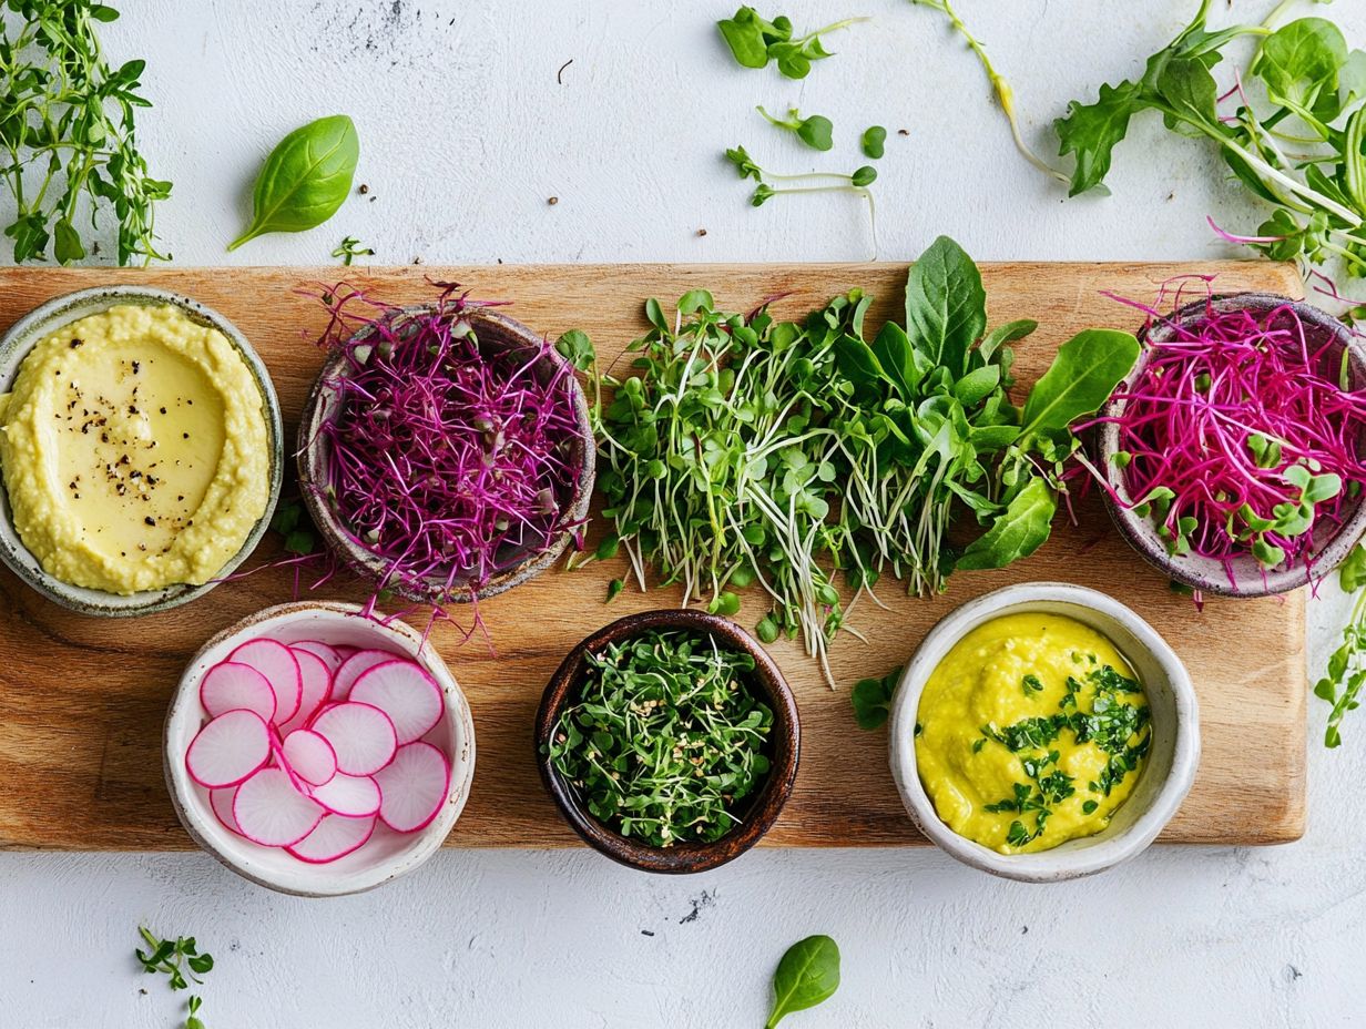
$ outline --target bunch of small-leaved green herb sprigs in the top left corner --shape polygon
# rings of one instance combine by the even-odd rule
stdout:
[[[10,0],[0,19],[0,178],[14,197],[4,234],[15,264],[98,251],[100,216],[117,220],[120,265],[169,260],[154,210],[171,183],[148,174],[135,139],[143,60],[105,61],[97,26],[119,12],[92,0]],[[89,212],[92,238],[78,225]],[[89,246],[87,246],[89,243]]]

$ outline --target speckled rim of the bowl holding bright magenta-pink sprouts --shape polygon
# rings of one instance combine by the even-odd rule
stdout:
[[[1143,343],[1143,347],[1134,369],[1124,377],[1126,384],[1132,381],[1134,377],[1143,370],[1143,366],[1147,362],[1149,336],[1158,332],[1165,324],[1175,323],[1186,325],[1199,321],[1209,305],[1216,305],[1221,310],[1238,310],[1246,307],[1258,313],[1266,313],[1281,306],[1290,306],[1302,320],[1313,323],[1314,325],[1329,332],[1332,338],[1347,351],[1348,359],[1354,365],[1356,374],[1366,381],[1366,340],[1356,338],[1339,318],[1335,318],[1328,312],[1315,307],[1307,301],[1298,301],[1292,297],[1284,297],[1276,292],[1244,290],[1233,292],[1213,292],[1209,297],[1201,297],[1199,299],[1176,307],[1171,314],[1164,317],[1162,323],[1150,323],[1145,325],[1138,333],[1138,339]],[[1105,402],[1097,417],[1113,418],[1123,413],[1123,410],[1124,402],[1112,398]],[[1362,534],[1366,533],[1366,499],[1363,499],[1358,503],[1348,519],[1339,526],[1337,532],[1328,537],[1320,547],[1318,552],[1314,555],[1313,568],[1306,567],[1303,563],[1296,563],[1291,567],[1277,567],[1265,573],[1253,573],[1246,577],[1240,577],[1239,585],[1233,585],[1229,582],[1228,574],[1224,571],[1224,566],[1220,562],[1208,558],[1175,558],[1168,555],[1165,548],[1156,543],[1156,534],[1149,529],[1147,521],[1116,502],[1115,496],[1111,493],[1112,489],[1117,491],[1121,496],[1126,495],[1124,477],[1121,470],[1117,469],[1112,461],[1112,456],[1119,450],[1119,426],[1108,421],[1101,422],[1096,426],[1096,429],[1093,429],[1091,441],[1090,450],[1096,455],[1097,466],[1105,476],[1105,484],[1109,486],[1109,489],[1101,491],[1101,497],[1104,500],[1105,510],[1109,512],[1111,521],[1115,523],[1120,536],[1124,537],[1126,543],[1128,543],[1145,562],[1161,571],[1164,575],[1168,575],[1176,582],[1190,586],[1191,589],[1198,589],[1213,596],[1243,599],[1287,593],[1292,589],[1307,585],[1315,570],[1322,568],[1322,574],[1328,574],[1328,571],[1337,567],[1351,552],[1352,547],[1356,545],[1356,541],[1362,537]]]

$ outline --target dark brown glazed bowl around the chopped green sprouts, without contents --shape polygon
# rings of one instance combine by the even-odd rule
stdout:
[[[585,806],[578,791],[566,783],[555,769],[545,747],[559,724],[564,706],[576,698],[583,681],[586,655],[598,653],[608,644],[630,640],[647,630],[683,629],[717,638],[727,649],[743,650],[754,657],[754,678],[750,682],[762,700],[773,709],[773,728],[769,735],[769,773],[743,810],[742,823],[713,843],[679,843],[672,847],[652,847],[619,835],[598,821]],[[600,629],[570,650],[550,676],[535,713],[535,763],[541,782],[555,799],[555,806],[585,843],[613,861],[642,872],[686,875],[734,861],[753,847],[769,831],[792,793],[800,753],[802,730],[796,713],[796,700],[783,679],[773,659],[758,641],[734,622],[706,615],[701,611],[668,609],[627,615]]]

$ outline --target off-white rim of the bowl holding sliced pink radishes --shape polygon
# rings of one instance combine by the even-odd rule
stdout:
[[[216,838],[221,829],[217,827],[212,812],[199,801],[195,794],[195,786],[184,768],[184,753],[189,749],[189,741],[193,739],[193,735],[184,732],[187,737],[186,742],[183,745],[178,742],[183,723],[193,723],[195,719],[202,717],[198,685],[206,668],[201,668],[199,666],[205,664],[206,656],[212,650],[224,646],[228,641],[238,637],[246,638],[268,627],[307,618],[316,618],[320,622],[333,622],[342,618],[365,618],[363,611],[365,608],[359,604],[324,600],[275,604],[247,615],[227,629],[214,633],[212,638],[195,650],[176,681],[175,693],[167,705],[161,739],[161,768],[167,790],[171,794],[171,805],[180,825],[184,827],[184,831],[199,849],[210,854],[221,865],[257,886],[275,890],[280,894],[306,898],[346,896],[374,890],[415,870],[441,849],[441,845],[451,834],[470,798],[470,787],[474,780],[475,739],[474,715],[470,711],[464,691],[430,641],[423,642],[421,633],[399,619],[381,623],[373,618],[367,618],[367,627],[389,640],[404,653],[408,653],[441,686],[441,693],[445,697],[443,719],[460,743],[460,753],[448,754],[451,760],[451,783],[441,813],[428,825],[413,834],[417,845],[411,851],[396,854],[373,868],[348,872],[344,877],[336,876],[335,881],[328,880],[328,873],[332,869],[325,864],[313,865],[301,862],[298,870],[291,869],[288,876],[279,876],[273,870],[261,868],[251,857],[238,857],[216,843]],[[247,842],[243,846],[254,845]]]

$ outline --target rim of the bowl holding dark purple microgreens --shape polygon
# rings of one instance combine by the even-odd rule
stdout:
[[[436,309],[434,303],[411,303],[395,309],[395,314],[411,316],[418,313],[426,313]],[[434,592],[413,589],[406,584],[389,584],[388,589],[404,600],[411,600],[418,604],[433,604],[433,603],[471,603],[475,600],[488,600],[489,597],[497,596],[508,589],[512,589],[522,582],[541,574],[568,548],[570,543],[576,536],[576,526],[581,526],[587,521],[589,507],[593,502],[593,485],[597,476],[597,440],[593,433],[593,422],[589,414],[587,398],[583,394],[583,387],[579,384],[578,376],[575,374],[574,366],[559,354],[555,347],[545,346],[546,338],[535,333],[527,325],[520,321],[503,314],[501,312],[493,310],[492,307],[470,306],[460,312],[460,317],[467,318],[471,323],[486,323],[489,327],[494,328],[500,333],[514,342],[515,344],[541,350],[544,353],[540,359],[552,361],[564,369],[568,376],[568,391],[570,403],[574,407],[575,422],[579,430],[583,456],[579,462],[579,481],[575,488],[574,495],[570,497],[570,503],[566,507],[566,515],[568,517],[570,527],[566,527],[544,551],[531,553],[515,566],[500,571],[493,575],[479,590],[471,590],[467,586],[462,586],[449,594],[437,596]],[[370,329],[362,328],[351,336],[351,339],[363,338]],[[478,325],[475,324],[475,333],[478,333]],[[346,355],[342,353],[331,354],[326,361],[324,361],[322,368],[318,370],[317,377],[313,380],[313,385],[309,388],[309,396],[303,403],[303,411],[299,417],[299,433],[298,444],[295,451],[295,459],[298,463],[299,473],[299,492],[303,497],[303,504],[313,518],[314,525],[317,525],[318,532],[328,544],[328,549],[336,553],[354,573],[365,579],[376,582],[384,574],[382,562],[376,560],[376,558],[366,548],[354,543],[337,525],[336,514],[325,504],[320,496],[320,491],[316,488],[316,482],[322,473],[322,437],[320,429],[324,418],[328,414],[328,400],[335,395],[331,389],[329,383],[335,380],[339,374],[344,372]]]

